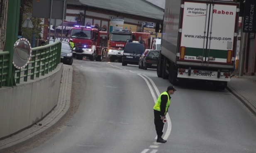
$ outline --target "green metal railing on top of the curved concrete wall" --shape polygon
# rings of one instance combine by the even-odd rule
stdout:
[[[17,69],[14,66],[8,67],[12,62],[10,52],[0,52],[0,88],[2,86],[16,86],[20,81],[33,80],[40,75],[48,74],[54,70],[61,60],[61,42],[56,41],[49,45],[32,48],[32,57],[24,69]],[[10,71],[9,69],[12,69]],[[12,74],[8,74],[12,72]],[[10,79],[10,81],[8,81]],[[7,84],[11,82],[11,84]]]

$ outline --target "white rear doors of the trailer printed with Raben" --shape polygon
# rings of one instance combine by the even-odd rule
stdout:
[[[238,4],[183,1],[178,61],[234,65]]]

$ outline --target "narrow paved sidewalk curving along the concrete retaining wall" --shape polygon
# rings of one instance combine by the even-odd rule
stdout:
[[[54,128],[56,124],[66,116],[71,100],[71,86],[72,86],[73,67],[70,65],[63,65],[63,72],[61,77],[61,85],[59,91],[58,103],[53,111],[49,113],[41,122],[26,129],[18,134],[0,141],[0,153],[8,151],[10,148],[22,146],[33,139],[45,134]],[[41,125],[41,126],[40,126]]]

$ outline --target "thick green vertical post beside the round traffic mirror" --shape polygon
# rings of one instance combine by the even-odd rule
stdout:
[[[20,0],[8,0],[7,11],[7,28],[5,51],[9,51],[9,64],[7,72],[7,86],[15,86],[15,67],[12,65],[13,46],[18,39],[19,17],[20,17]],[[13,70],[14,69],[14,70]],[[13,73],[14,72],[14,73]]]

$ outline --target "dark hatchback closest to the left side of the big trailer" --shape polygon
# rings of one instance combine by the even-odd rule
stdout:
[[[159,57],[159,50],[149,50],[149,52],[144,57],[143,63],[143,69],[152,68],[156,69],[157,61]]]

